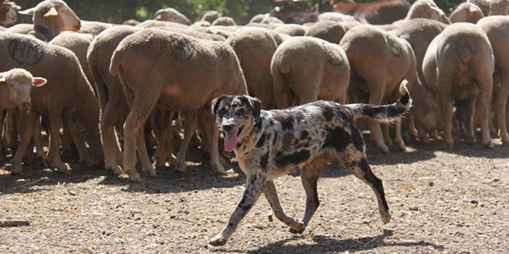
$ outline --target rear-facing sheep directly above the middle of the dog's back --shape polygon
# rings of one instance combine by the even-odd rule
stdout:
[[[292,37],[271,61],[274,98],[279,109],[318,99],[346,102],[350,66],[337,44],[312,37]]]

